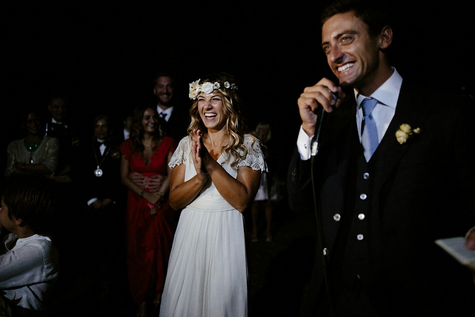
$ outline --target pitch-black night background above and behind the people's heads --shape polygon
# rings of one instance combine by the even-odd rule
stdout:
[[[275,137],[293,140],[299,94],[332,76],[318,22],[327,2],[4,2],[1,145],[18,138],[19,110],[46,109],[52,92],[66,93],[70,114],[84,123],[99,111],[119,117],[153,97],[151,76],[165,67],[178,75],[175,95],[185,106],[191,81],[215,71],[235,75],[249,126],[268,119]],[[474,8],[392,4],[392,60],[403,77],[456,92],[473,87]]]

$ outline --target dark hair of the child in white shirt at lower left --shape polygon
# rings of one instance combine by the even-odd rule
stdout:
[[[3,203],[10,219],[21,219],[36,234],[47,235],[58,204],[56,182],[44,176],[18,175],[9,178]]]

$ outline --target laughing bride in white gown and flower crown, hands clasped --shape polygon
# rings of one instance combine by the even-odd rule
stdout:
[[[170,255],[160,316],[247,316],[244,211],[267,170],[257,138],[244,134],[234,80],[190,84],[190,135],[169,166],[170,206],[185,208]]]

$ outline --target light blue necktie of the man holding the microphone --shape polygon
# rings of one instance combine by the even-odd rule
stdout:
[[[378,139],[378,129],[376,127],[375,119],[371,112],[375,108],[378,101],[374,98],[365,98],[361,103],[363,108],[363,121],[361,122],[361,143],[363,148],[365,148],[365,158],[366,161],[369,161],[375,153],[380,141]],[[363,136],[363,133],[367,130],[367,134]]]

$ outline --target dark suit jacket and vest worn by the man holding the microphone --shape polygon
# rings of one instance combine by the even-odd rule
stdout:
[[[307,315],[326,311],[328,293],[342,316],[359,316],[358,309],[362,316],[412,316],[451,312],[453,305],[474,308],[466,303],[467,296],[475,299],[470,272],[434,244],[462,236],[475,224],[473,107],[413,87],[403,83],[394,117],[368,164],[367,210],[356,207],[363,149],[354,98],[328,117],[313,168],[322,235],[303,306]],[[401,145],[395,132],[403,123],[422,132]],[[295,151],[287,182],[295,211],[314,209],[310,175],[310,160],[301,161]],[[359,213],[368,221],[364,255],[354,252],[358,242],[349,236]],[[357,265],[365,274],[355,282]]]

